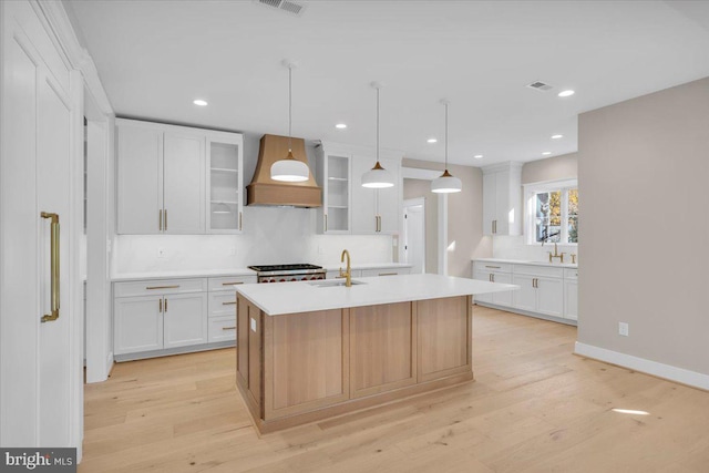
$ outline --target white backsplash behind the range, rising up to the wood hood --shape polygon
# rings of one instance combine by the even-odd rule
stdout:
[[[242,235],[117,235],[112,273],[233,269],[287,263],[337,266],[345,248],[352,255],[352,264],[393,260],[393,237],[317,235],[316,212],[246,207]],[[163,256],[158,257],[161,249]]]

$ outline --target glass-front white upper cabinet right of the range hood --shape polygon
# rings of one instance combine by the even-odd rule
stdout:
[[[349,234],[352,222],[352,154],[335,145],[317,147],[316,178],[322,187],[322,207],[318,210],[318,233]]]

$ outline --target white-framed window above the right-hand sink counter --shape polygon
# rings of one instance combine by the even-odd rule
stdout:
[[[578,183],[574,181],[527,184],[528,244],[578,243]]]

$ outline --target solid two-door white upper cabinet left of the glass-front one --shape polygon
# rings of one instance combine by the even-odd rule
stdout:
[[[116,120],[117,233],[205,232],[205,137],[184,126]]]

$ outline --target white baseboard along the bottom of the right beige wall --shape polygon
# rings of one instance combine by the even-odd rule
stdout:
[[[578,341],[576,342],[574,352],[582,357],[593,358],[595,360],[605,361],[607,363],[617,364],[619,367],[629,368],[635,371],[640,371],[658,378],[664,378],[692,388],[709,391],[709,374],[689,371],[670,364],[658,363],[657,361],[619,353],[617,351],[594,347],[593,345],[580,343]]]

